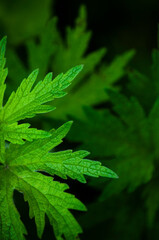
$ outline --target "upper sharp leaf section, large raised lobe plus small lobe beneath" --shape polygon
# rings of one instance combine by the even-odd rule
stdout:
[[[17,121],[55,109],[43,104],[64,96],[66,93],[63,90],[71,84],[82,68],[82,65],[76,66],[67,73],[58,75],[54,80],[52,80],[52,74],[49,73],[34,88],[38,70],[33,71],[28,78],[24,79],[17,91],[12,92],[2,109],[0,127],[4,139],[12,143],[23,144],[23,139],[32,141],[50,136],[44,131],[28,128],[30,126],[28,124],[18,125]]]

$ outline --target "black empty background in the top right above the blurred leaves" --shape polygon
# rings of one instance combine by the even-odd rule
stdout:
[[[54,12],[59,17],[63,33],[65,26],[73,25],[81,4],[87,7],[88,28],[93,32],[90,50],[107,47],[108,60],[113,55],[135,48],[136,61],[145,58],[149,61],[152,48],[157,46],[159,1],[55,1]]]

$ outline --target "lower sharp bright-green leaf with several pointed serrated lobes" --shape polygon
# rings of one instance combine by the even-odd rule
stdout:
[[[62,142],[62,138],[67,134],[72,122],[68,122],[56,131],[51,131],[52,136],[34,140],[32,143],[24,145],[11,144],[6,150],[5,166],[0,168],[2,186],[0,195],[4,194],[4,184],[7,178],[8,198],[1,199],[3,211],[0,211],[2,239],[20,239],[26,233],[22,222],[19,223],[19,214],[13,203],[13,192],[18,190],[24,194],[24,198],[29,203],[30,217],[35,217],[38,236],[41,237],[44,225],[45,214],[54,227],[57,239],[65,238],[74,240],[81,233],[81,228],[73,218],[68,209],[85,210],[85,207],[73,195],[64,193],[68,188],[66,184],[52,181],[51,177],[43,176],[37,171],[45,171],[49,174],[56,174],[66,178],[69,176],[80,182],[85,182],[84,174],[88,176],[114,177],[117,175],[106,167],[101,166],[97,161],[83,159],[88,155],[86,151],[72,153],[71,150],[63,152],[49,152],[52,148]],[[4,209],[14,209],[14,222],[12,216],[8,214],[7,222],[3,214]],[[9,210],[8,210],[9,211]],[[11,211],[11,210],[10,210]],[[19,224],[21,229],[19,229]],[[24,238],[22,238],[24,239]]]

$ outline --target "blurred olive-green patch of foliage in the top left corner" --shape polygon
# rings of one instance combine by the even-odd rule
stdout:
[[[45,26],[51,14],[52,0],[1,0],[0,29],[11,44],[19,44],[35,36]],[[39,17],[40,16],[40,17]]]

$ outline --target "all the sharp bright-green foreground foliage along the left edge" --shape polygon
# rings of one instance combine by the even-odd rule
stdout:
[[[57,240],[75,240],[82,229],[69,209],[85,211],[86,208],[74,195],[65,192],[68,185],[43,173],[64,179],[70,177],[82,183],[86,182],[84,175],[111,178],[117,178],[117,175],[98,161],[84,159],[88,155],[86,151],[53,150],[62,142],[72,122],[47,133],[28,128],[30,125],[27,123],[18,124],[18,121],[53,110],[54,107],[45,103],[64,96],[64,89],[83,66],[76,66],[54,80],[49,73],[34,86],[38,75],[38,70],[35,70],[21,82],[16,92],[12,92],[3,106],[7,76],[4,69],[5,45],[6,38],[0,42],[0,239],[24,240],[24,234],[27,234],[14,204],[13,194],[17,190],[29,204],[29,216],[35,218],[40,238],[47,215]],[[5,147],[5,140],[11,142],[8,147]]]

